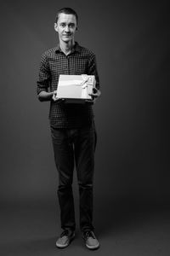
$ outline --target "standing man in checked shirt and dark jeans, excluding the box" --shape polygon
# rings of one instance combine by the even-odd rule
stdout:
[[[75,212],[72,194],[74,162],[80,196],[80,228],[86,247],[96,249],[99,241],[94,236],[93,179],[96,132],[93,103],[99,97],[99,76],[95,55],[75,42],[77,13],[70,8],[59,9],[54,30],[59,34],[59,45],[42,55],[37,95],[41,102],[50,101],[49,120],[54,146],[54,160],[59,172],[59,207],[61,228],[57,247],[67,247],[75,236]],[[94,75],[96,89],[92,100],[66,103],[57,97],[59,74]]]

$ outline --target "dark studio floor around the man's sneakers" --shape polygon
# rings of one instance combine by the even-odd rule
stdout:
[[[65,249],[55,247],[59,212],[55,206],[15,205],[0,211],[2,256],[105,255],[169,256],[170,210],[165,206],[115,203],[94,212],[99,250],[89,251],[77,229],[76,239]],[[114,208],[114,209],[113,209]],[[106,214],[107,212],[107,214]]]

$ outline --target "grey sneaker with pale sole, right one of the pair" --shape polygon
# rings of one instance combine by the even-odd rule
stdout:
[[[83,233],[83,239],[86,243],[86,247],[88,247],[88,249],[94,250],[99,248],[99,241],[96,238],[96,236],[94,235],[94,232],[91,230],[85,231]]]

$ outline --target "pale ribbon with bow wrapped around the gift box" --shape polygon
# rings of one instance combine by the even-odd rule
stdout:
[[[81,98],[87,98],[88,96],[88,85],[92,84],[92,78],[87,74],[82,74],[82,81],[81,80],[67,80],[67,81],[59,81],[61,86],[68,86],[68,85],[77,85],[82,86],[82,95]]]

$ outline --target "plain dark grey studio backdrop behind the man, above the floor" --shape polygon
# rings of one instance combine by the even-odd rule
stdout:
[[[117,207],[169,206],[167,2],[1,3],[3,209],[11,214],[28,206],[59,211],[49,104],[38,102],[36,81],[42,52],[58,44],[54,18],[65,6],[76,9],[80,21],[76,40],[93,50],[98,62],[102,96],[94,106],[98,131],[94,213],[99,224],[104,228],[106,222],[104,229],[109,229],[108,216]],[[74,190],[77,204],[76,175]]]

